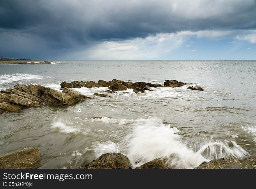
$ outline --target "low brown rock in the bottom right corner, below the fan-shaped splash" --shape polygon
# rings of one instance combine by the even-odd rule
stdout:
[[[210,162],[202,162],[196,169],[255,169],[256,154],[243,158],[228,156],[214,159]]]

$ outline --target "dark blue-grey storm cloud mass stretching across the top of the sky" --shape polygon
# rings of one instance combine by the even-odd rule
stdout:
[[[2,38],[30,36],[53,49],[181,30],[254,29],[255,18],[253,0],[0,2]]]

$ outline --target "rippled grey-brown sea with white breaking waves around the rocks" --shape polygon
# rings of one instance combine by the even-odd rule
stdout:
[[[120,152],[134,167],[162,156],[177,168],[256,153],[256,61],[59,61],[0,65],[0,90],[62,81],[172,79],[200,85],[132,89],[94,96],[105,87],[77,91],[94,97],[69,107],[37,106],[0,115],[0,154],[37,146],[41,168],[77,168],[106,152]],[[93,117],[102,116],[102,119]]]

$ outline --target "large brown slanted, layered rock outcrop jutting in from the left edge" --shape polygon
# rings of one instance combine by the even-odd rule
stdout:
[[[42,104],[67,106],[86,98],[67,87],[60,92],[41,85],[15,85],[14,89],[0,92],[0,114]]]

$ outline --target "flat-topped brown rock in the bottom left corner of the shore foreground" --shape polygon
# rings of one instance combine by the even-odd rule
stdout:
[[[38,168],[42,157],[38,148],[24,148],[0,156],[1,169]]]

